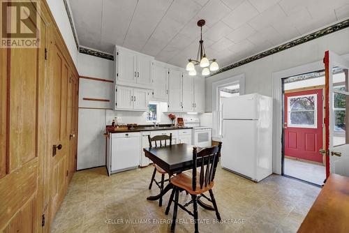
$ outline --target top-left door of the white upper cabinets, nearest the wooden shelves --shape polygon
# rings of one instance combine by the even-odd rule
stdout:
[[[117,81],[119,82],[136,82],[136,61],[137,57],[131,51],[117,50]]]

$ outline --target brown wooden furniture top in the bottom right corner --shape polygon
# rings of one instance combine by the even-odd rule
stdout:
[[[349,177],[331,174],[298,232],[339,233],[348,230]]]

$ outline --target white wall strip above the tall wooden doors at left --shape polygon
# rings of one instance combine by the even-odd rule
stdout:
[[[72,57],[75,63],[75,66],[77,66],[77,59],[78,59],[79,52],[75,44],[73,31],[70,27],[68,14],[66,13],[66,8],[64,7],[64,2],[63,0],[46,0],[46,1],[47,1],[47,5],[50,7],[54,20],[57,23],[59,31],[63,36],[64,42],[68,47],[70,56]]]

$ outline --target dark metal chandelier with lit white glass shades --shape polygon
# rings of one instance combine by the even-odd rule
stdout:
[[[200,27],[200,41],[199,41],[199,50],[198,55],[196,56],[196,60],[188,59],[188,64],[186,64],[186,70],[189,72],[189,75],[196,75],[195,66],[200,66],[202,68],[201,74],[204,76],[209,75],[209,71],[218,70],[218,63],[216,63],[216,59],[207,59],[204,40],[202,40],[202,26],[205,25],[205,20],[198,21],[198,27]],[[211,62],[211,64],[210,64]]]

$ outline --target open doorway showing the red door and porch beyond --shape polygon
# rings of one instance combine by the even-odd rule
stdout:
[[[326,178],[325,70],[283,79],[283,174],[321,186]]]

